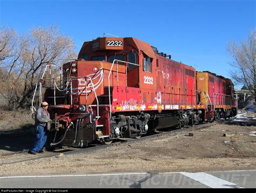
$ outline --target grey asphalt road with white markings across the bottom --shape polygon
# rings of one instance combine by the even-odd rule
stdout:
[[[256,170],[0,177],[1,192],[19,188],[18,192],[32,188],[30,192],[40,193],[66,192],[65,189],[73,188],[256,188]]]

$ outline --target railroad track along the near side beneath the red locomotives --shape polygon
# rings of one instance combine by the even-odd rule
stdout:
[[[127,139],[127,138],[118,138],[114,140],[111,144],[108,145],[95,145],[92,147],[87,147],[87,148],[71,148],[71,147],[64,147],[62,149],[56,149],[55,151],[48,151],[43,154],[36,154],[36,155],[30,155],[28,154],[28,149],[25,149],[23,151],[19,152],[14,152],[14,153],[7,153],[7,154],[2,154],[0,155],[0,161],[4,161],[4,159],[7,159],[6,162],[0,162],[0,166],[3,165],[8,165],[12,163],[19,163],[19,162],[25,162],[25,161],[33,161],[33,160],[38,160],[38,159],[43,159],[43,158],[51,158],[51,157],[58,157],[58,156],[63,156],[63,155],[69,155],[69,154],[79,154],[79,153],[86,153],[86,152],[93,152],[97,151],[99,149],[105,149],[107,147],[111,146],[118,146],[120,144],[127,144],[127,143],[132,143],[132,142],[138,142],[138,141],[143,141],[143,140],[148,140],[148,139],[153,139],[157,138],[163,135],[171,135],[171,134],[176,134],[179,132],[183,131],[195,131],[195,130],[200,130],[202,128],[210,127],[214,125],[213,123],[205,123],[205,124],[200,124],[200,125],[194,125],[194,126],[189,126],[187,128],[182,128],[178,130],[171,130],[171,131],[161,131],[156,134],[151,134],[151,135],[146,135],[138,139]],[[19,156],[21,159],[13,161],[12,158],[17,159],[17,156]],[[12,161],[10,161],[12,160]]]

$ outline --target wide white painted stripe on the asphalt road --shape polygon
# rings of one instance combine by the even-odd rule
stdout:
[[[222,180],[221,178],[218,178],[203,172],[199,172],[199,173],[181,172],[180,174],[190,177],[191,179],[196,180],[202,184],[205,184],[211,188],[242,188],[242,187],[239,187],[239,185],[237,184],[228,182],[226,180]]]

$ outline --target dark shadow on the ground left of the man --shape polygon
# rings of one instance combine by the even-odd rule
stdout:
[[[32,124],[23,127],[0,132],[0,150],[9,152],[28,151],[35,141],[36,132]]]

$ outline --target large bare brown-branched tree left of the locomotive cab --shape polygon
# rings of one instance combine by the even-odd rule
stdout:
[[[77,55],[72,39],[60,34],[56,26],[37,27],[25,35],[17,35],[9,28],[1,33],[5,35],[1,35],[0,46],[4,49],[0,53],[0,65],[8,74],[2,77],[0,94],[8,101],[8,109],[30,103],[29,97],[46,65],[61,66]],[[11,44],[12,39],[16,40],[15,44]]]

